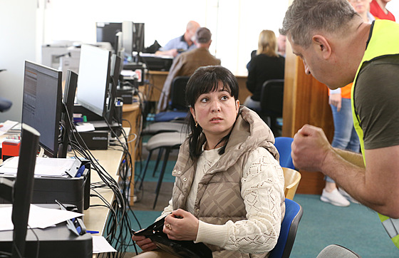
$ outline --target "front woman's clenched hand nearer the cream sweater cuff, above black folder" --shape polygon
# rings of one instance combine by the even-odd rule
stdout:
[[[192,240],[197,239],[198,219],[190,212],[178,209],[165,217],[163,232],[169,239]]]

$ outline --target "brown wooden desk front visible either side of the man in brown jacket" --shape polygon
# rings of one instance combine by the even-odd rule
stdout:
[[[148,98],[149,101],[158,101],[160,99],[160,94],[168,74],[169,72],[165,71],[148,72],[151,87],[148,85],[142,86],[142,92],[150,96],[150,98]],[[236,78],[239,86],[239,103],[243,104],[248,96],[252,96],[252,93],[247,89],[247,76],[236,75]]]

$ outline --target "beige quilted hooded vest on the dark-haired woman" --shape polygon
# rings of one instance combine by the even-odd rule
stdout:
[[[226,152],[222,155],[199,182],[195,200],[195,217],[203,222],[223,225],[228,220],[246,220],[244,200],[241,197],[242,168],[249,153],[258,147],[264,147],[279,160],[274,147],[271,130],[261,123],[259,116],[248,108],[241,107]],[[256,136],[254,136],[256,135]],[[201,143],[204,143],[202,138]],[[173,209],[186,209],[187,195],[194,180],[195,163],[188,155],[188,142],[180,147],[179,157],[172,175],[176,177],[173,188]],[[231,252],[212,244],[213,257],[267,257],[267,254],[244,254]]]

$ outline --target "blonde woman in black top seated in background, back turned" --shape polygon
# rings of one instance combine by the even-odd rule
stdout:
[[[277,53],[276,35],[264,30],[259,34],[257,55],[249,61],[247,88],[252,93],[244,105],[252,110],[261,110],[261,88],[265,81],[284,79],[285,58]]]

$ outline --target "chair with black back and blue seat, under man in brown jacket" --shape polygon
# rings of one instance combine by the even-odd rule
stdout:
[[[170,105],[164,112],[155,115],[155,122],[185,120],[189,109],[186,104],[185,92],[190,76],[177,76],[170,88]]]

